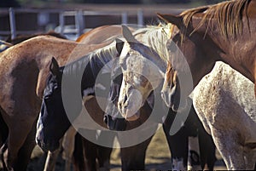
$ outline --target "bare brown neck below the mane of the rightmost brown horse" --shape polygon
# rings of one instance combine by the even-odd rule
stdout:
[[[199,23],[199,21],[196,21],[196,19],[193,20],[193,22],[194,21],[195,25],[196,23]],[[214,61],[223,61],[232,68],[236,69],[236,71],[241,72],[242,75],[251,81],[255,80],[252,75],[254,70],[253,63],[256,65],[255,60],[252,59],[250,63],[247,63],[247,59],[253,56],[250,54],[253,47],[250,46],[252,45],[252,42],[254,42],[252,37],[256,35],[254,34],[253,36],[253,33],[251,33],[250,28],[248,27],[247,19],[246,21],[243,21],[241,33],[236,33],[233,35],[220,34],[215,20],[213,20],[212,24],[209,25],[207,22],[205,22],[205,24],[198,29],[198,32],[201,32],[201,36],[203,36],[201,48],[204,48],[204,50],[207,52],[208,58],[211,58]],[[247,45],[247,50],[242,51],[245,48],[241,47],[243,47],[245,43],[250,45]]]

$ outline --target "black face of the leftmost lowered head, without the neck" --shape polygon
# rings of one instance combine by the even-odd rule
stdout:
[[[62,71],[52,58],[49,66],[49,77],[44,88],[43,102],[37,124],[37,144],[45,151],[55,151],[59,147],[59,140],[71,125],[61,98]],[[64,113],[64,114],[63,114]],[[58,128],[56,128],[58,125]]]

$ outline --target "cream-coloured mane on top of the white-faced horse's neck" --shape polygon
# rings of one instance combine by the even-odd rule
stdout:
[[[133,33],[135,37],[142,34],[143,43],[147,44],[149,47],[159,54],[161,60],[167,63],[168,61],[168,51],[166,48],[166,43],[168,41],[168,34],[170,32],[170,25],[160,23],[158,26],[147,26],[146,28],[138,29]]]

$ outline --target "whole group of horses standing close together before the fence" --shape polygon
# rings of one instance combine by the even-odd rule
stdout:
[[[256,2],[158,16],[167,24],[37,36],[1,52],[3,169],[26,170],[36,143],[53,154],[66,139],[76,170],[109,170],[114,137],[122,170],[145,169],[159,124],[172,169],[188,168],[189,136],[201,169],[213,169],[215,146],[228,169],[254,169]]]

